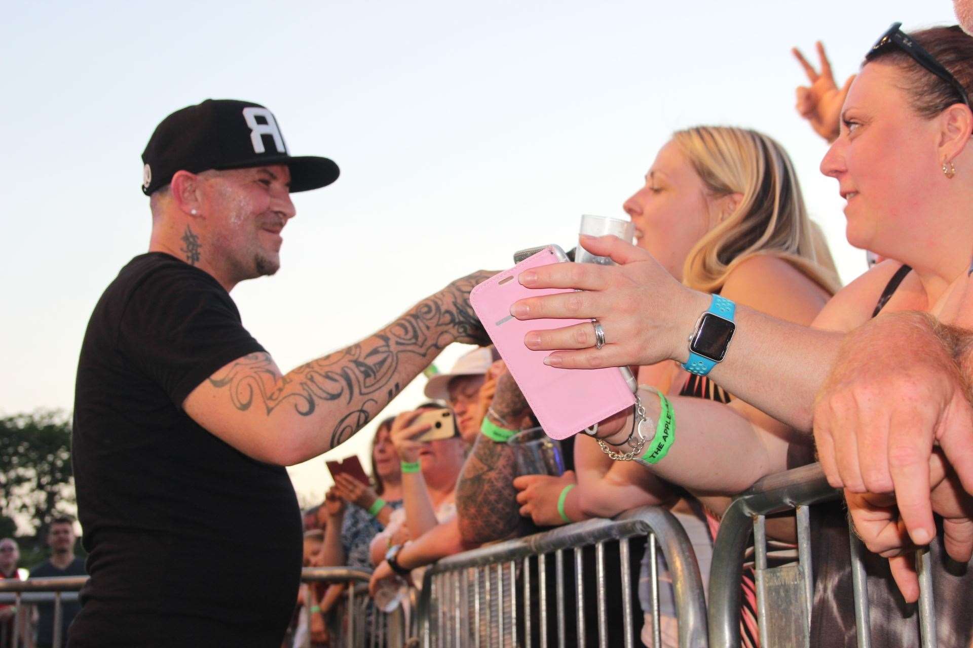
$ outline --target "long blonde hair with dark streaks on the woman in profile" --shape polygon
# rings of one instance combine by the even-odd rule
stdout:
[[[717,292],[745,259],[778,256],[834,294],[841,288],[834,260],[808,218],[790,157],[772,138],[730,126],[696,126],[673,133],[713,197],[742,195],[737,209],[706,232],[683,266],[683,283]]]

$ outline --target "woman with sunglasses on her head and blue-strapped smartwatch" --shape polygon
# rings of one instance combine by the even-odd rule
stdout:
[[[869,51],[848,89],[841,132],[821,170],[839,181],[847,198],[848,241],[900,260],[876,265],[841,290],[811,328],[783,323],[751,308],[737,308],[718,295],[688,290],[672,281],[651,256],[617,239],[604,238],[588,239],[583,245],[595,255],[612,256],[622,266],[586,267],[576,278],[555,266],[524,273],[521,281],[530,288],[585,292],[572,295],[570,303],[555,295],[524,300],[512,308],[522,319],[596,318],[605,331],[604,347],[595,348],[591,324],[528,334],[525,344],[538,350],[574,350],[555,353],[546,360],[562,367],[676,359],[694,372],[711,371],[712,380],[722,388],[796,429],[809,433],[813,419],[822,465],[833,485],[847,487],[852,515],[863,523],[859,531],[865,523],[875,521],[875,509],[880,506],[873,502],[870,508],[869,502],[861,501],[861,494],[894,490],[901,521],[886,517],[889,524],[880,529],[891,531],[887,535],[898,538],[900,544],[907,543],[905,529],[909,529],[912,539],[924,544],[936,533],[930,506],[935,507],[944,518],[946,550],[955,560],[967,563],[973,549],[973,535],[965,532],[971,508],[968,495],[956,488],[955,477],[961,479],[967,493],[973,491],[973,440],[969,434],[973,414],[963,381],[956,379],[964,369],[962,363],[955,363],[955,354],[968,348],[969,338],[968,333],[943,329],[932,316],[941,315],[946,324],[973,321],[973,297],[966,286],[973,250],[970,87],[973,38],[957,27],[906,35],[894,25]],[[910,269],[904,270],[904,265]],[[877,311],[883,317],[870,323]],[[877,330],[882,334],[868,337]],[[579,342],[582,336],[587,339]],[[691,338],[689,344],[687,337]],[[933,364],[943,370],[929,373],[930,380],[902,373],[916,367],[916,375],[925,376],[922,371]],[[848,366],[856,371],[843,373]],[[833,376],[826,384],[832,367],[839,379]],[[888,400],[882,389],[875,389],[883,386],[886,372],[898,381],[889,384],[888,391],[898,394],[903,385],[908,388],[896,400]],[[877,378],[868,398],[847,404],[846,411],[857,418],[836,415],[841,408],[835,398],[847,394],[847,381],[853,384],[862,374]],[[830,414],[814,410],[815,394],[822,386],[830,390],[822,395]],[[665,435],[665,443],[642,443],[649,448],[642,461],[664,479],[690,490],[733,493],[788,467],[789,444],[778,443],[766,430],[726,407],[679,398],[667,406],[652,393],[641,394],[641,399],[654,421],[662,413],[671,425],[669,415],[674,413],[675,433]],[[606,424],[601,432],[608,434],[609,442],[638,445],[640,440],[632,437],[629,441],[628,428],[623,428],[626,423],[631,426],[631,421],[630,416],[627,422]],[[845,425],[839,429],[821,421],[843,421]],[[852,435],[851,443],[847,434]],[[865,438],[878,440],[862,445]],[[930,458],[934,441],[939,448]],[[855,475],[859,465],[870,469]],[[951,468],[957,475],[950,474]],[[842,543],[828,539],[832,531],[841,532],[843,525],[825,528],[829,530],[818,539],[824,537],[823,545],[833,550],[829,559],[847,563],[838,554]],[[882,542],[888,542],[883,533],[866,537],[870,548],[881,548]],[[814,546],[824,548],[821,542]],[[844,546],[847,558],[847,542]],[[939,557],[941,541],[934,547]],[[893,560],[893,573],[903,595],[914,600],[918,588],[908,559]],[[969,583],[963,580],[968,576],[949,574],[941,563],[935,564],[937,602],[951,608],[969,604]],[[868,564],[870,576],[876,576],[869,579],[870,601],[873,609],[881,609],[886,622],[881,637],[873,626],[873,645],[916,645],[915,615],[903,620],[901,598],[878,571],[884,566]],[[846,582],[845,576],[836,571],[822,578],[819,571],[816,586],[821,592],[838,581]],[[962,592],[966,594],[957,596]],[[827,606],[815,606],[814,627],[830,632],[827,638],[815,635],[820,645],[854,641],[853,621],[850,628],[848,625],[849,598],[838,598],[843,604],[833,607],[844,611],[844,618],[822,616]],[[815,601],[823,603],[823,595]],[[973,610],[956,610],[947,619],[941,615],[940,641],[968,643],[970,618]]]

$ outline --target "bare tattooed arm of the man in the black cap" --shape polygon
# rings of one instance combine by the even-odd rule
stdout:
[[[458,279],[361,342],[287,374],[267,353],[237,358],[183,408],[253,459],[291,465],[317,457],[375,418],[451,342],[486,342],[469,295],[488,276]]]

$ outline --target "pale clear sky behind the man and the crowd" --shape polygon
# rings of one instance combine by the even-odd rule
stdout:
[[[888,25],[952,3],[86,2],[5,5],[0,414],[70,409],[90,311],[147,249],[139,154],[170,112],[263,103],[291,153],[342,168],[295,195],[283,266],[233,297],[284,370],[342,348],[472,270],[576,242],[621,205],[672,130],[739,125],[791,154],[842,278],[865,268],[825,144],[794,111],[789,50],[825,42],[839,84]],[[813,59],[812,59],[813,60]],[[447,368],[461,349],[437,361]],[[419,378],[386,410],[422,400]],[[363,459],[373,426],[344,447]],[[303,502],[330,478],[290,469]]]

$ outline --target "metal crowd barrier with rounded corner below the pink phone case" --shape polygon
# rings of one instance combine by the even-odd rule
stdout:
[[[633,631],[632,580],[630,538],[647,538],[646,551],[650,555],[652,571],[653,636],[661,646],[659,574],[656,569],[657,551],[661,548],[672,575],[675,607],[678,618],[680,648],[706,645],[706,611],[703,581],[696,554],[686,531],[664,508],[646,506],[623,513],[614,520],[590,520],[559,529],[465,552],[430,566],[423,579],[419,597],[418,629],[425,648],[446,646],[521,646],[531,648],[530,617],[531,563],[537,566],[539,590],[540,646],[565,645],[565,576],[564,552],[574,550],[577,636],[587,638],[584,613],[585,547],[595,547],[595,576],[597,600],[598,646],[608,646],[607,608],[618,609],[617,592],[607,592],[605,570],[621,568],[621,604],[625,617],[626,648],[632,648],[638,635]],[[605,544],[619,543],[620,565],[606,565]],[[548,600],[547,561],[554,555],[556,596]],[[518,573],[521,575],[523,596],[518,595]],[[609,598],[611,597],[611,598]],[[548,636],[552,602],[557,615],[557,644]],[[636,603],[637,604],[637,603]],[[472,618],[471,614],[472,612]],[[520,617],[518,615],[521,615]],[[523,638],[518,631],[523,631]]]

